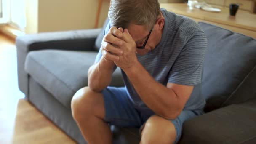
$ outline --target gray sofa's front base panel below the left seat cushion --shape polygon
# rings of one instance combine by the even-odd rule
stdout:
[[[67,133],[80,144],[86,144],[80,130],[75,123],[71,110],[55,99],[35,79],[29,79],[29,101],[62,131]],[[47,139],[47,138],[46,138]],[[62,143],[62,142],[60,142]]]

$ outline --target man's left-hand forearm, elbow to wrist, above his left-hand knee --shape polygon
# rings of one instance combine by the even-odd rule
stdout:
[[[110,84],[113,69],[114,63],[110,63],[101,57],[101,60],[88,70],[88,87],[93,91],[102,91]]]

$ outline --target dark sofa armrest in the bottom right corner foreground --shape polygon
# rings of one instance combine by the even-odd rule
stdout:
[[[183,124],[179,144],[251,144],[253,142],[256,142],[255,98],[186,121]]]

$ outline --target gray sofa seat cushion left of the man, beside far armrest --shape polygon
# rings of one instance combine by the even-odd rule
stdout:
[[[93,51],[31,51],[25,61],[25,70],[70,109],[72,96],[77,90],[87,86],[88,69],[94,64],[96,55],[97,52]],[[123,85],[120,69],[114,72],[111,85]]]

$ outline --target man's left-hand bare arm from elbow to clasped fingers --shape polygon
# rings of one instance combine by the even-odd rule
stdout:
[[[119,55],[123,54],[118,48],[122,45],[119,39],[121,37],[123,37],[123,29],[116,27],[112,27],[104,36],[101,45],[102,57],[88,70],[88,87],[93,91],[100,92],[110,84],[115,67],[113,61],[118,61]]]

